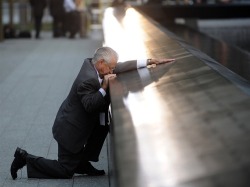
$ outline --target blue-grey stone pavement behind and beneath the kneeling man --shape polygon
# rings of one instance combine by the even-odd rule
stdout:
[[[0,43],[0,186],[109,186],[107,142],[100,161],[105,176],[74,176],[65,180],[28,179],[26,167],[12,180],[9,169],[17,146],[29,153],[57,159],[51,127],[57,110],[84,58],[102,46],[102,31],[86,39],[11,39]]]

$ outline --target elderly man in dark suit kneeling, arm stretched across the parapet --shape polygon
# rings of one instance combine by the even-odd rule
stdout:
[[[75,173],[104,175],[90,161],[97,162],[109,130],[109,80],[115,73],[134,70],[149,64],[174,59],[145,59],[117,63],[117,53],[109,47],[96,50],[93,58],[85,59],[67,98],[57,113],[53,136],[58,143],[58,160],[28,154],[17,148],[10,171],[13,179],[27,164],[29,178],[71,178]]]

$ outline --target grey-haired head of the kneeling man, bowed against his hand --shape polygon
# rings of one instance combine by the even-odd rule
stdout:
[[[92,63],[99,72],[100,78],[113,73],[118,61],[118,54],[110,47],[98,48],[92,58]]]

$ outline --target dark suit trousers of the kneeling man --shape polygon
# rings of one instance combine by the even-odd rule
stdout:
[[[97,162],[109,131],[109,126],[98,125],[91,134],[87,144],[77,154],[71,153],[58,144],[58,160],[50,160],[31,154],[27,155],[28,178],[67,179],[74,173],[81,174],[87,161]]]

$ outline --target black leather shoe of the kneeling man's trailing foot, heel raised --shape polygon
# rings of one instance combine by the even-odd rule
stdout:
[[[28,153],[25,150],[19,147],[16,149],[15,154],[14,154],[15,158],[10,167],[10,173],[11,173],[13,180],[17,178],[17,171],[26,165],[27,155]]]

